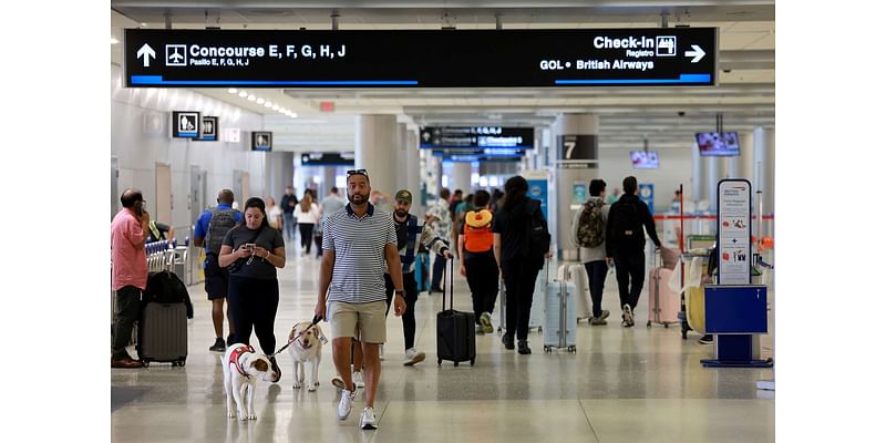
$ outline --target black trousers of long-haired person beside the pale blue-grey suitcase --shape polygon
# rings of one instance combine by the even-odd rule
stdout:
[[[538,277],[538,264],[517,258],[502,261],[505,277],[505,333],[517,340],[526,340],[529,336],[529,310],[533,307],[535,278]],[[545,295],[543,293],[542,297]]]

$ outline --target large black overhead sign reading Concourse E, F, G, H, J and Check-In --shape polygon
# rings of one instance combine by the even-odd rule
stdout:
[[[546,87],[717,83],[715,28],[127,29],[130,87]]]

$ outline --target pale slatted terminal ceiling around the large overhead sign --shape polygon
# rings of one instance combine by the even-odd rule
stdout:
[[[720,84],[714,87],[570,87],[473,90],[269,90],[250,91],[298,113],[280,115],[227,89],[200,93],[260,114],[275,132],[275,148],[352,151],[353,116],[401,115],[415,124],[496,124],[546,127],[557,114],[591,112],[600,116],[601,148],[637,148],[642,140],[657,148],[691,145],[692,133],[712,131],[718,113],[730,131],[775,124],[774,1],[313,1],[282,0],[148,1],[112,0],[111,33],[123,28],[163,29],[504,29],[656,28],[662,14],[669,27],[720,30]],[[120,44],[112,62],[120,62]],[[320,102],[334,102],[321,113]],[[678,115],[683,113],[683,116]]]

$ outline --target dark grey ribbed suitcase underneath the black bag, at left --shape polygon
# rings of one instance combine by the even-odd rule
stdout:
[[[138,360],[184,367],[187,359],[187,307],[184,302],[147,302],[138,322]]]

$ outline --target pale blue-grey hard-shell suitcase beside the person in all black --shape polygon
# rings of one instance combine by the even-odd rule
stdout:
[[[549,260],[548,260],[549,261]],[[576,351],[576,287],[555,280],[548,281],[548,266],[545,262],[545,352],[554,349]]]

